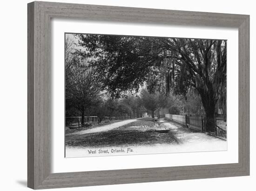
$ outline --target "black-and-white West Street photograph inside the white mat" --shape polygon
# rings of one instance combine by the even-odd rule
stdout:
[[[65,33],[65,157],[227,150],[227,40]]]

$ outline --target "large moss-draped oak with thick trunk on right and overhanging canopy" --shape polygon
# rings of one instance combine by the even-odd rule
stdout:
[[[215,106],[226,87],[225,40],[78,35],[80,55],[90,58],[113,97],[138,91],[201,96],[208,131],[215,130]]]

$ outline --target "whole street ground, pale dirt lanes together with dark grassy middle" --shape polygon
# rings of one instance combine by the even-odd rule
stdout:
[[[66,141],[67,143],[72,144],[66,145],[66,157],[227,150],[227,141],[209,136],[208,134],[193,131],[171,121],[159,121],[160,125],[157,128],[170,130],[169,133],[162,134],[155,132],[155,127],[152,127],[152,129],[144,127],[147,126],[146,123],[148,123],[148,121],[144,121],[146,125],[130,125],[131,127],[118,128],[134,121],[139,120],[126,120],[102,127],[95,127],[73,133],[76,134],[75,136],[73,136],[73,134],[68,134]],[[141,121],[141,123],[143,123],[143,121]],[[168,139],[166,139],[166,137],[170,137],[169,135],[175,137],[175,140],[178,143],[167,141]],[[156,140],[162,141],[157,142]],[[107,143],[109,144],[107,145]],[[116,145],[116,143],[120,143],[120,145]],[[81,147],[83,145],[88,146]],[[115,153],[115,149],[122,149],[124,152]],[[131,149],[132,152],[128,152],[130,151],[129,149]],[[96,153],[90,154],[90,150],[95,150]],[[101,153],[101,150],[107,150],[108,154]]]

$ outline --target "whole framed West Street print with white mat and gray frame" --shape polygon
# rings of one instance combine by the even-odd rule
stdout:
[[[28,4],[28,187],[249,175],[249,16]]]

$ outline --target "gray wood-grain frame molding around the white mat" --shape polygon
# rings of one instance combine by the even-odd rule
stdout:
[[[249,175],[249,15],[35,1],[28,4],[27,185],[33,189]],[[236,27],[239,30],[239,162],[51,173],[50,19]]]

